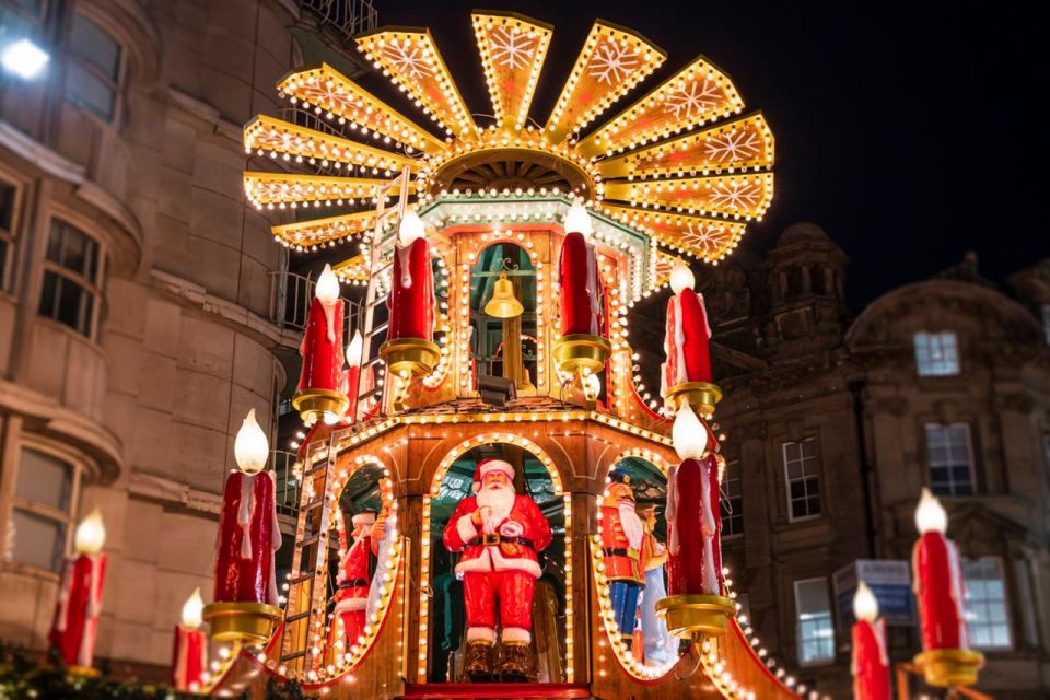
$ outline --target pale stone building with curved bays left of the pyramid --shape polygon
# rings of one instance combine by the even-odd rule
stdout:
[[[4,642],[44,645],[94,506],[103,662],[163,678],[182,603],[211,595],[233,436],[255,408],[276,438],[299,342],[272,314],[287,260],[245,206],[242,127],[278,114],[293,67],[355,70],[347,27],[310,4],[0,2],[0,45],[50,55],[36,79],[0,77]]]

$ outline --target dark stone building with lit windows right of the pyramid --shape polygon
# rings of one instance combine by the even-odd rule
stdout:
[[[837,579],[858,561],[910,565],[930,487],[966,559],[980,689],[1046,697],[1050,259],[1006,293],[970,255],[853,314],[845,255],[819,228],[789,228],[761,261],[742,253],[702,285],[726,395],[725,561],[760,646],[850,697],[851,596],[837,599]],[[913,625],[889,640],[895,661],[920,644]]]

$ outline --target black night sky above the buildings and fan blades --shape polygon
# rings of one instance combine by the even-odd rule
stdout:
[[[1000,283],[1050,255],[1047,112],[1037,108],[1050,61],[1046,42],[1037,45],[1045,27],[1037,3],[374,4],[381,25],[430,27],[468,107],[482,114],[491,107],[470,11],[512,10],[553,24],[532,108],[539,122],[595,18],[668,54],[606,116],[702,54],[733,78],[748,108],[766,114],[777,139],[777,195],[742,248],[763,254],[786,225],[819,224],[851,258],[855,306],[967,250]]]

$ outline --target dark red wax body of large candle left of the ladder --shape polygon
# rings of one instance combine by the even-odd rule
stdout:
[[[281,532],[273,491],[272,471],[226,477],[215,547],[217,603],[278,604],[273,552]]]

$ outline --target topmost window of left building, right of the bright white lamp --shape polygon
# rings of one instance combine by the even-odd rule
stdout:
[[[120,84],[120,44],[79,12],[69,31],[66,98],[105,122],[113,121]]]

